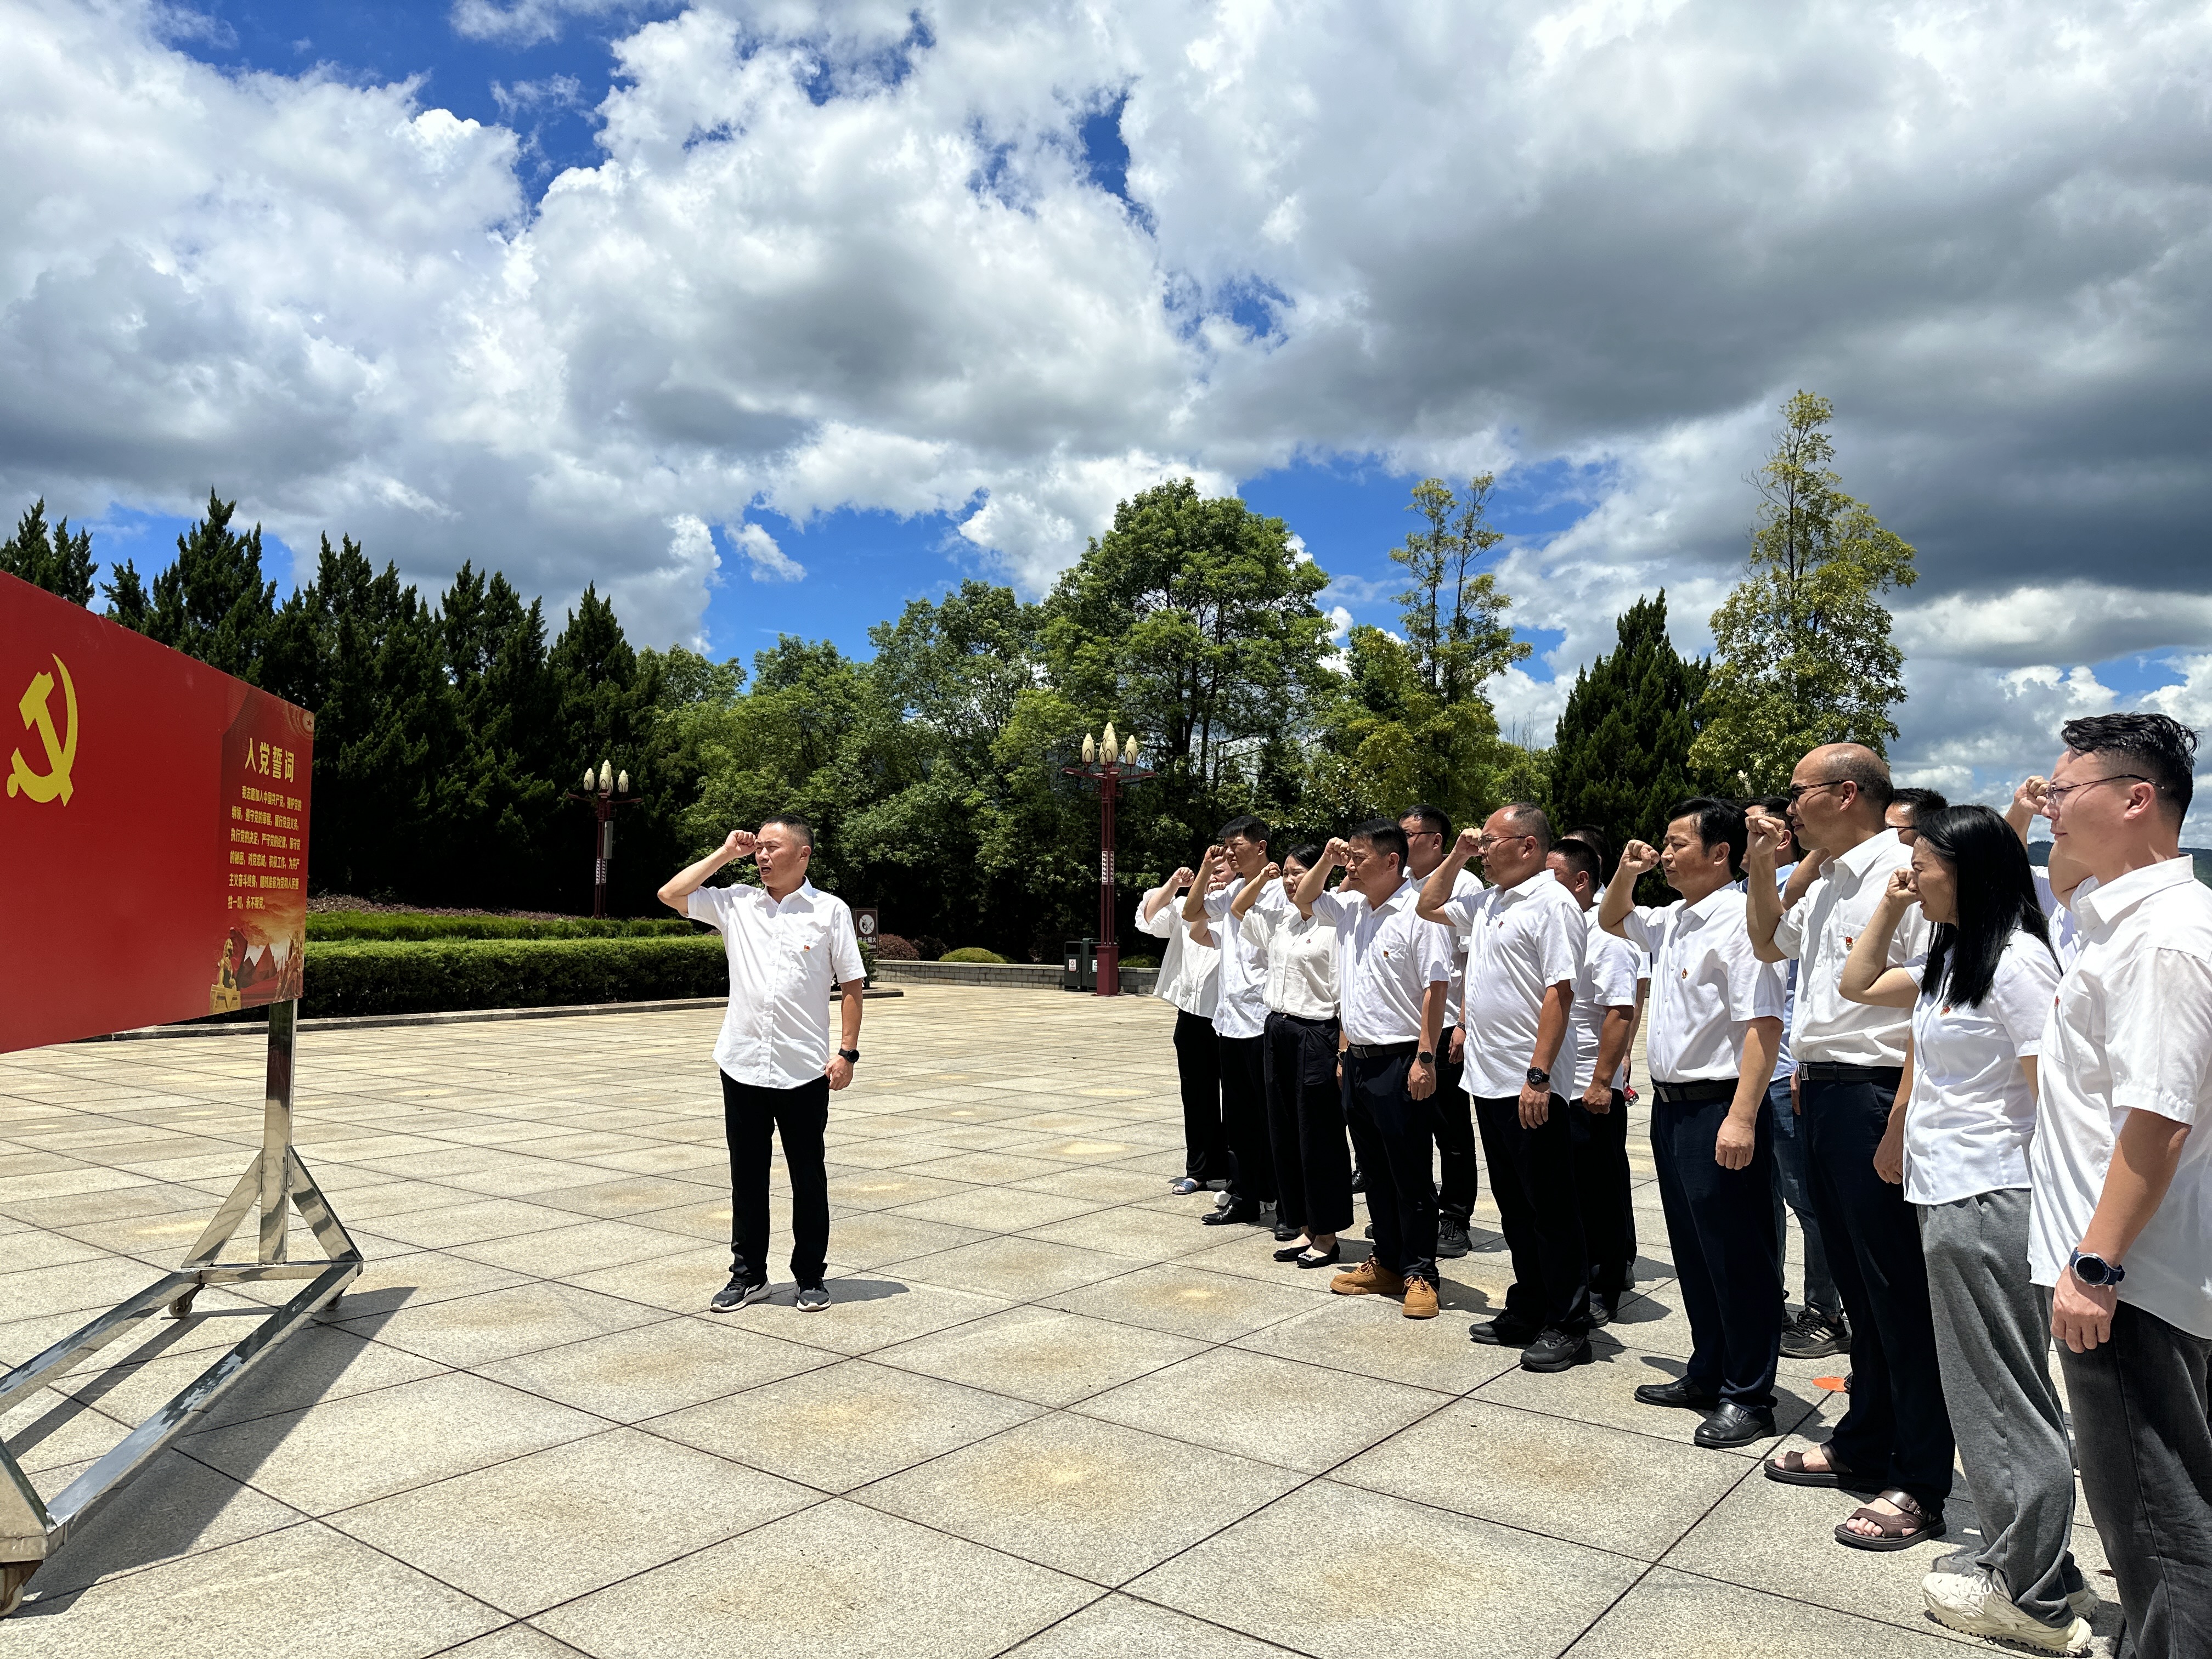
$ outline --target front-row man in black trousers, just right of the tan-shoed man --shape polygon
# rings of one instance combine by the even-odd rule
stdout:
[[[1420,918],[1467,936],[1467,1093],[1513,1252],[1504,1312],[1471,1336],[1522,1349],[1524,1371],[1590,1363],[1590,1250],[1575,1199],[1575,1139],[1551,1068],[1582,978],[1588,922],[1544,865],[1551,821],[1526,801],[1462,830],[1429,876]],[[1475,854],[1495,883],[1453,896]]]

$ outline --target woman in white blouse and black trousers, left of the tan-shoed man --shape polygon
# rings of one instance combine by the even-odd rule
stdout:
[[[1267,1139],[1274,1146],[1276,1239],[1292,1243],[1276,1261],[1327,1267],[1336,1234],[1352,1225],[1352,1141],[1336,1082],[1336,929],[1301,911],[1298,880],[1321,863],[1321,847],[1292,847],[1267,865],[1230,907],[1245,938],[1267,953]],[[1261,905],[1281,876],[1287,905]]]

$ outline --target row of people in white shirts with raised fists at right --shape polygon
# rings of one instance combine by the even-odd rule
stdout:
[[[1637,1398],[1745,1447],[1776,1433],[1783,1354],[1849,1354],[1829,1438],[1765,1462],[1865,1500],[1838,1544],[1942,1537],[1958,1462],[1982,1542],[1927,1575],[1929,1613],[2086,1652],[2079,1467],[2132,1650],[2212,1652],[2212,1155],[2190,1135],[2212,891],[2179,852],[2197,737],[2106,714],[2062,743],[2002,816],[1825,745],[1785,796],[1679,803],[1610,880],[1601,834],[1553,836],[1526,803],[1455,841],[1411,807],[1279,863],[1232,821],[1139,905],[1179,1011],[1177,1190],[1219,1190],[1208,1225],[1272,1221],[1287,1265],[1338,1267],[1365,1188],[1374,1248],[1329,1287],[1433,1318],[1480,1135],[1513,1287],[1471,1334],[1533,1371],[1588,1363],[1635,1274],[1624,1091],[1648,1022],[1690,1360]],[[1672,902],[1637,902],[1652,872]]]

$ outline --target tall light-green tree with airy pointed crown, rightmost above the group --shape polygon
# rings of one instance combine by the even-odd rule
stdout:
[[[1708,774],[1776,790],[1805,750],[1865,743],[1887,754],[1905,701],[1905,657],[1882,595],[1909,588],[1913,549],[1843,489],[1829,462],[1827,398],[1783,405],[1759,469],[1750,575],[1712,613],[1714,668],[1692,750]]]

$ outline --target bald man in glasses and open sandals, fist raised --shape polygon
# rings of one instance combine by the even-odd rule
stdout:
[[[1798,1062],[1820,1241],[1851,1321],[1851,1409],[1827,1444],[1770,1458],[1767,1478],[1880,1491],[1867,1504],[1878,1522],[1845,1522],[1854,1537],[1876,1548],[1942,1535],[1953,1451],[1920,1223],[1905,1188],[1874,1170],[1874,1150],[1902,1082],[1911,1011],[1843,998],[1851,945],[1889,874],[1911,867],[1911,849],[1882,821],[1893,794],[1889,768],[1874,750],[1858,743],[1816,748],[1790,774],[1787,823],[1752,810],[1743,860],[1752,951],[1761,962],[1798,964],[1790,1053]],[[1820,874],[1783,911],[1774,854],[1792,830]],[[1887,962],[1905,967],[1927,947],[1929,922],[1913,907],[1889,942]]]

